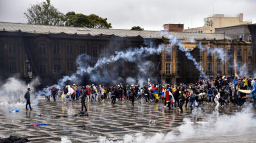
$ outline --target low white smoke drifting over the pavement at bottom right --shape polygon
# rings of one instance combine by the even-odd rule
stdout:
[[[191,119],[184,118],[183,124],[172,129],[173,131],[164,133],[156,133],[154,136],[144,136],[142,133],[133,135],[125,135],[122,140],[112,141],[106,137],[98,138],[101,143],[110,142],[176,142],[187,141],[209,137],[220,137],[228,133],[233,136],[242,136],[241,133],[249,131],[250,128],[256,127],[256,119],[251,114],[252,106],[247,105],[241,112],[234,115],[220,115],[218,112],[208,115],[203,122],[192,122]],[[177,132],[179,134],[177,135]]]

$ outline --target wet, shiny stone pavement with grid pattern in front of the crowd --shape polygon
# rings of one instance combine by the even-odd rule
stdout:
[[[99,136],[117,141],[125,135],[136,133],[152,136],[157,132],[166,134],[173,131],[179,134],[176,127],[183,124],[184,118],[192,122],[203,121],[205,115],[212,114],[215,105],[204,103],[205,112],[199,115],[191,114],[189,107],[183,107],[183,114],[176,108],[164,109],[162,101],[146,103],[138,100],[132,107],[130,102],[118,101],[112,105],[107,100],[104,103],[88,103],[86,106],[89,116],[74,116],[81,110],[80,100],[62,103],[60,100],[48,102],[40,99],[38,105],[32,105],[33,110],[27,111],[24,106],[0,106],[0,138],[13,135],[27,137],[32,142],[60,142],[61,137],[67,136],[72,142],[97,142]],[[9,110],[14,109],[20,111],[9,113]],[[241,109],[229,105],[226,109],[220,107],[219,114],[233,115],[238,111]],[[255,109],[253,114],[255,117]],[[150,120],[156,120],[156,123],[150,123]],[[34,127],[35,122],[48,125]],[[252,133],[251,136],[254,136],[255,128]]]

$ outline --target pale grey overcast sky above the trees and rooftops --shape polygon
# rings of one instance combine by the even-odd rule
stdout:
[[[24,12],[43,0],[0,0],[0,21],[26,23]],[[256,0],[51,0],[60,12],[75,11],[108,18],[113,28],[160,31],[163,24],[180,23],[184,28],[201,27],[210,14],[243,13],[256,22]],[[214,7],[214,8],[213,8]],[[214,9],[214,11],[213,11]]]

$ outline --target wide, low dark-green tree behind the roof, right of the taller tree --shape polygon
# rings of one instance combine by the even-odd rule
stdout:
[[[76,14],[71,11],[65,15],[66,26],[69,27],[88,27],[88,28],[112,28],[111,23],[107,22],[107,18],[101,18],[98,15]]]

